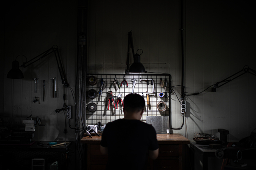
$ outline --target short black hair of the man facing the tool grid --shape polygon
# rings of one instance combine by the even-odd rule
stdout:
[[[145,99],[137,93],[130,93],[123,98],[123,110],[137,112],[145,108]]]

